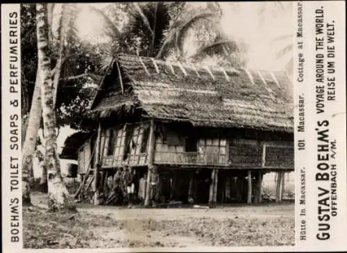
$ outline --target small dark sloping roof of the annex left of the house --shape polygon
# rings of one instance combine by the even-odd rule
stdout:
[[[77,160],[77,150],[83,143],[92,136],[92,132],[77,132],[68,136],[64,142],[64,147],[59,156],[60,159]]]

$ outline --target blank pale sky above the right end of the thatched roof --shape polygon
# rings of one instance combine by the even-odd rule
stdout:
[[[276,44],[273,40],[293,31],[294,15],[289,4],[282,11],[273,9],[269,2],[221,3],[221,28],[230,39],[235,38],[248,44],[247,67],[258,70],[284,68],[285,59],[282,63],[276,60],[276,54],[284,44]],[[258,15],[260,8],[264,8],[262,16]]]

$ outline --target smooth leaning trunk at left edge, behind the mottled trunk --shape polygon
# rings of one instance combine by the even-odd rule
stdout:
[[[37,70],[37,73],[39,70]],[[35,152],[37,131],[40,128],[40,120],[42,115],[41,96],[40,96],[40,76],[36,75],[36,83],[33,94],[33,101],[29,113],[28,126],[24,145],[22,147],[22,202],[23,205],[31,204],[30,196],[30,169],[33,163],[33,155]]]

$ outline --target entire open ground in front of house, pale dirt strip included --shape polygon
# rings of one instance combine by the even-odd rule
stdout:
[[[294,245],[294,204],[215,209],[126,209],[78,204],[48,213],[46,196],[24,209],[24,247],[203,247]]]

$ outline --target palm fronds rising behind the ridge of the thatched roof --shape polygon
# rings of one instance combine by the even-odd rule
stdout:
[[[117,3],[119,4],[119,3]],[[176,7],[176,13],[172,10]],[[190,8],[189,8],[190,7]],[[91,7],[93,8],[93,7]],[[128,24],[122,31],[112,22],[103,10],[93,8],[103,18],[103,33],[110,38],[110,43],[103,48],[104,58],[101,70],[105,70],[115,54],[138,54],[153,58],[167,58],[176,53],[178,60],[185,60],[184,44],[189,33],[199,24],[215,24],[221,17],[221,8],[217,3],[208,3],[207,8],[198,10],[187,3],[130,3],[126,8]],[[210,33],[210,31],[204,31]],[[192,58],[203,58],[211,54],[230,54],[237,51],[235,41],[221,35],[201,45]]]

